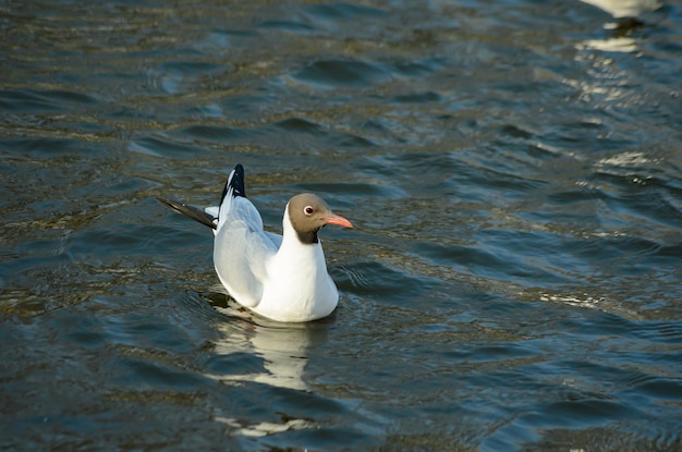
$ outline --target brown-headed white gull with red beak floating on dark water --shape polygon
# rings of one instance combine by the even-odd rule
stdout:
[[[214,230],[216,272],[240,305],[270,320],[303,322],[327,317],[339,304],[318,232],[327,224],[353,224],[318,196],[303,193],[289,200],[283,235],[263,229],[260,213],[246,198],[241,164],[230,172],[218,207],[157,200]]]

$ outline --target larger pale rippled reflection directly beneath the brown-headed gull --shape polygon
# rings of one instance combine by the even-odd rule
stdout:
[[[308,350],[326,342],[326,322],[331,320],[280,323],[239,307],[222,293],[211,294],[210,302],[217,310],[233,320],[216,323],[221,337],[215,343],[215,353],[222,356],[242,354],[259,357],[261,366],[243,374],[210,374],[208,377],[223,382],[254,381],[301,391],[308,389],[304,380]]]

